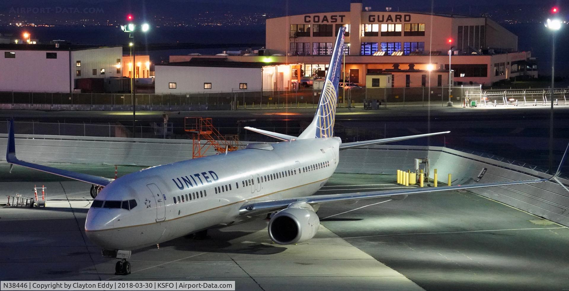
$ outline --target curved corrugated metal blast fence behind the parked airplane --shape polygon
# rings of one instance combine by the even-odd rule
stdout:
[[[192,156],[191,140],[17,135],[16,142],[20,159],[43,163],[152,166]],[[6,134],[0,134],[0,148],[6,148]],[[5,155],[0,156],[5,159]],[[413,169],[415,158],[428,158],[429,176],[432,177],[433,169],[438,169],[442,182],[452,173],[453,185],[549,177],[535,167],[450,148],[384,145],[342,151],[336,172],[394,175],[397,169]],[[560,180],[569,184],[566,178]],[[478,188],[471,192],[569,226],[569,193],[558,184]]]

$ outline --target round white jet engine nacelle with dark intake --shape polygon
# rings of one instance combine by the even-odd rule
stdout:
[[[278,244],[302,243],[313,238],[319,227],[320,219],[314,208],[304,202],[294,202],[273,215],[269,236]]]

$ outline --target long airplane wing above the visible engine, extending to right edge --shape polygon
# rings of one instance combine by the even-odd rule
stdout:
[[[558,182],[564,189],[567,189],[558,180],[557,177],[559,177],[559,174],[561,173],[561,166],[563,165],[567,157],[568,150],[569,150],[569,145],[565,149],[565,153],[563,155],[561,163],[559,164],[557,172],[550,178],[537,178],[534,180],[496,182],[496,183],[486,183],[486,184],[442,186],[437,188],[415,188],[415,189],[401,189],[401,190],[372,191],[372,192],[363,192],[363,193],[357,192],[357,193],[344,193],[344,194],[316,195],[316,196],[275,199],[267,201],[248,201],[245,202],[240,207],[239,213],[240,215],[246,215],[251,217],[257,216],[284,209],[293,202],[304,202],[310,205],[316,205],[321,203],[331,203],[331,202],[340,202],[340,201],[349,201],[349,200],[360,200],[360,199],[380,198],[380,197],[397,197],[397,196],[405,197],[406,195],[413,195],[413,194],[436,193],[436,192],[443,192],[450,190],[462,190],[462,189],[473,189],[473,188],[484,188],[484,187],[533,184],[533,183],[541,183],[547,181]]]

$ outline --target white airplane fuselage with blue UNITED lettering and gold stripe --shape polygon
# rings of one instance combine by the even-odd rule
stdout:
[[[246,201],[318,191],[336,169],[340,143],[338,138],[292,140],[127,174],[98,194],[87,214],[86,235],[108,250],[135,250],[244,222],[248,217],[239,209]],[[117,208],[117,202],[105,207],[106,201],[133,199],[137,205],[130,210]],[[105,202],[95,207],[99,201]]]

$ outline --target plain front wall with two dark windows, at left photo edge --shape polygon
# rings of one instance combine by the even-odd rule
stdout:
[[[15,59],[5,52],[15,52]],[[57,59],[47,59],[47,52]],[[69,92],[69,52],[0,50],[0,91]]]

